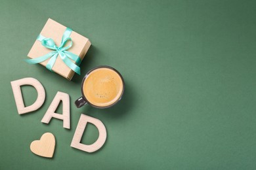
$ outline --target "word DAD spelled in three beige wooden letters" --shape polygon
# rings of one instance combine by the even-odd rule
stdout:
[[[24,105],[22,92],[20,89],[20,86],[24,86],[24,85],[33,86],[37,91],[37,99],[32,105],[27,107],[25,107]],[[11,86],[12,86],[12,92],[14,94],[14,99],[15,99],[17,110],[18,110],[18,114],[24,114],[27,112],[32,112],[34,110],[37,110],[45,102],[45,88],[43,88],[43,85],[35,78],[28,77],[28,78],[22,78],[20,80],[15,80],[11,82]],[[58,114],[54,112],[57,109],[58,105],[60,104],[60,101],[62,101],[63,103],[62,114]],[[62,93],[62,92],[56,93],[51,105],[49,106],[49,109],[45,113],[45,116],[43,116],[43,119],[41,120],[41,122],[45,124],[49,124],[49,122],[51,121],[51,118],[57,118],[57,119],[63,120],[63,127],[66,129],[70,129],[70,96],[67,93]],[[98,139],[95,141],[95,143],[89,144],[89,145],[80,143],[81,137],[83,136],[83,132],[85,131],[87,122],[94,124],[98,129]],[[104,124],[96,118],[87,116],[85,114],[81,114],[70,146],[77,148],[79,150],[83,150],[85,152],[95,152],[96,150],[98,150],[103,146],[105,141],[106,141],[106,127],[104,126]]]

